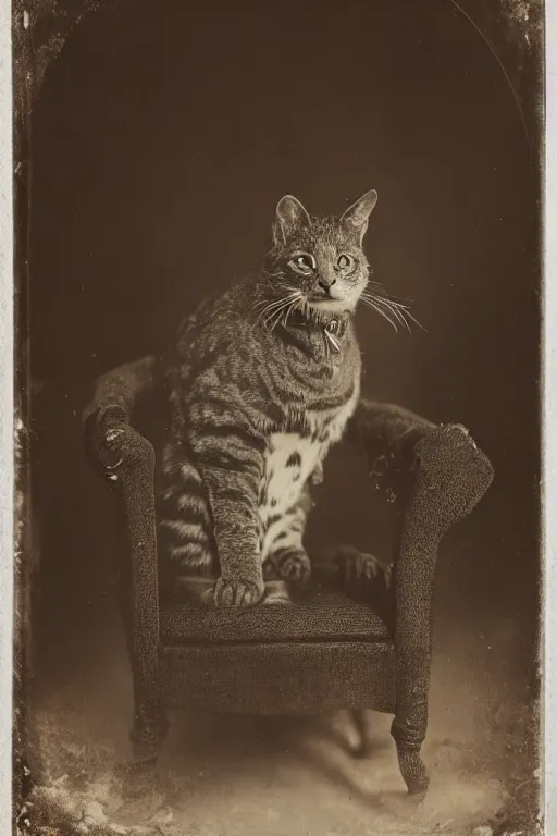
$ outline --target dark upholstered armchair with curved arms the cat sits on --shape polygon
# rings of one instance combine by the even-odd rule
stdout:
[[[420,748],[428,726],[432,602],[446,532],[480,501],[492,466],[469,432],[396,406],[362,401],[348,431],[373,483],[396,497],[392,576],[339,553],[282,606],[218,608],[161,582],[154,445],[134,427],[157,399],[153,358],[96,382],[86,438],[121,497],[121,591],[134,683],[133,763],[149,774],[169,710],[311,714],[369,708],[394,715],[392,735],[410,794],[429,784]],[[389,582],[387,582],[389,580]]]

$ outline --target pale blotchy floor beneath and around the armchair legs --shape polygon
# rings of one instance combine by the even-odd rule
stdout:
[[[432,780],[419,810],[406,797],[391,717],[371,712],[371,750],[363,759],[350,753],[358,738],[345,713],[267,720],[174,714],[159,791],[123,802],[113,767],[128,752],[132,693],[112,616],[87,659],[53,664],[35,698],[49,792],[73,810],[84,832],[88,822],[113,826],[102,833],[134,836],[471,833],[504,799],[487,717],[502,697],[512,699],[516,627],[476,623],[462,631],[444,620],[436,626],[423,748]]]

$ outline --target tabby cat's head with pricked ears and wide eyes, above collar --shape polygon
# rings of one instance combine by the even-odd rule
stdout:
[[[368,283],[362,241],[376,200],[376,192],[366,192],[339,217],[312,218],[299,200],[285,195],[264,262],[273,294],[298,294],[300,307],[315,314],[354,311]]]

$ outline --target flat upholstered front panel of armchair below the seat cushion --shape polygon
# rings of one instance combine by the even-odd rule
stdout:
[[[393,662],[393,644],[380,641],[183,644],[162,649],[160,683],[166,705],[189,711],[392,712]]]

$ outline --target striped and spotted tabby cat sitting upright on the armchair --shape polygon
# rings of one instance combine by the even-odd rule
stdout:
[[[214,577],[216,605],[256,603],[264,578],[310,575],[310,485],[360,393],[354,314],[376,199],[313,218],[283,197],[259,273],[202,303],[166,360],[160,533],[178,573]]]

